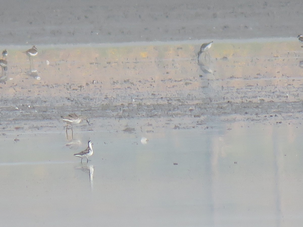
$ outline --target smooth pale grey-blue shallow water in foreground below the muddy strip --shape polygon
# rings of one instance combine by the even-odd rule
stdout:
[[[300,226],[297,126],[160,127],[146,144],[140,130],[82,132],[81,141],[94,141],[88,165],[64,132],[20,133],[17,143],[6,135],[0,218],[5,226]]]

